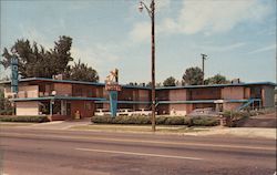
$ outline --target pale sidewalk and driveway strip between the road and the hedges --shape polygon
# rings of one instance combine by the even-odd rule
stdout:
[[[6,125],[4,123],[2,125]],[[9,126],[7,123],[6,126]],[[117,132],[117,133],[143,133],[153,134],[151,125],[102,125],[91,124],[90,119],[81,121],[57,121],[39,124],[11,125],[11,127],[25,127],[35,130],[76,130],[76,131],[96,131],[96,132]],[[226,135],[240,137],[264,137],[276,140],[276,128],[263,127],[187,127],[187,126],[164,126],[157,125],[155,134],[172,134],[172,135]]]

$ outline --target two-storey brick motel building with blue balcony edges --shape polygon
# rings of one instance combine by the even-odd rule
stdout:
[[[18,93],[11,82],[0,82],[4,96],[16,105],[17,115],[48,115],[52,121],[91,117],[99,109],[110,109],[104,83],[44,78],[21,79]],[[160,115],[186,115],[195,109],[217,112],[274,107],[275,83],[232,83],[156,87],[156,112]],[[122,85],[117,109],[151,110],[151,87]]]

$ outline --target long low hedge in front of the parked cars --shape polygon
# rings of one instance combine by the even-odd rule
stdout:
[[[151,124],[151,116],[92,116],[92,123],[98,124]],[[196,116],[156,116],[157,125],[188,125],[188,126],[215,126],[219,124],[217,117]]]

